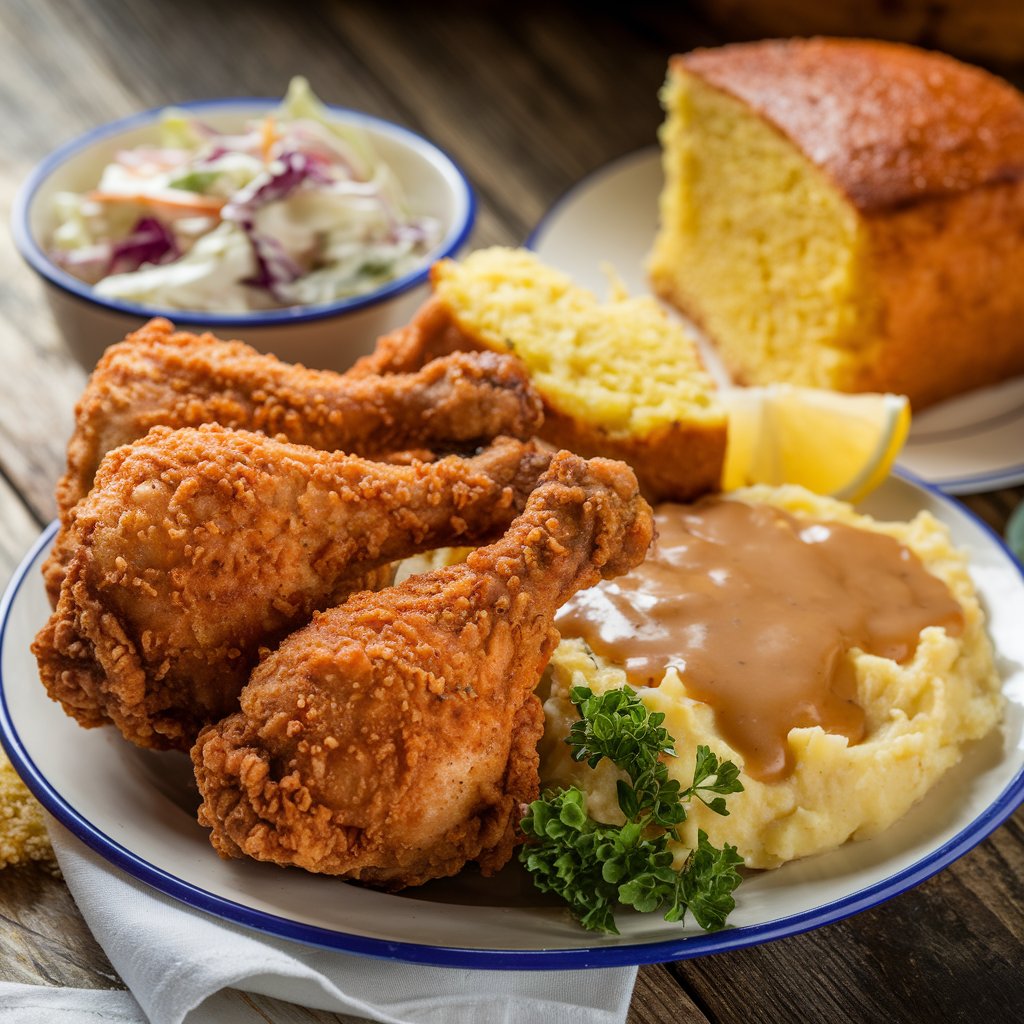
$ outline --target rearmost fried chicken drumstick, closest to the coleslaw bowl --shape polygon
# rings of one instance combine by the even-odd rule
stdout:
[[[50,603],[71,560],[72,510],[102,457],[151,427],[219,423],[381,457],[468,451],[499,434],[531,437],[540,410],[519,364],[494,353],[460,352],[420,362],[410,374],[356,377],[292,366],[240,341],[175,333],[168,321],[151,321],[108,349],[76,409],[56,493],[61,530],[43,566]]]

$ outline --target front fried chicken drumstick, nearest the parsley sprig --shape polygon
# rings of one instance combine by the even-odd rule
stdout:
[[[538,792],[554,613],[652,530],[625,464],[562,452],[497,544],[315,615],[193,749],[214,847],[386,889],[500,868]]]

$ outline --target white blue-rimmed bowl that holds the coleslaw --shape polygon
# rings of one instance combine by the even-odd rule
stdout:
[[[177,104],[218,131],[238,131],[280,102],[274,98],[209,99]],[[410,210],[440,223],[437,243],[417,265],[375,291],[311,306],[212,313],[142,305],[97,295],[93,287],[58,266],[48,240],[54,198],[95,186],[119,151],[153,143],[166,108],[103,125],[46,157],[15,198],[12,233],[23,258],[39,275],[68,348],[91,370],[104,349],[154,316],[182,330],[237,337],[289,362],[344,370],[374,347],[377,337],[410,319],[425,299],[430,265],[457,255],[472,230],[476,203],[458,165],[416,132],[373,115],[330,106],[332,118],[357,126],[397,177]]]

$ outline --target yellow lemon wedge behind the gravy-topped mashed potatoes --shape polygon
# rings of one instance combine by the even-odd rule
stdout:
[[[842,394],[772,384],[724,388],[729,439],[722,489],[799,483],[857,502],[888,475],[910,429],[901,394]]]

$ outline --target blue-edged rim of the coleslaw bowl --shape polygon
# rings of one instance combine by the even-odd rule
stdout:
[[[14,197],[14,203],[11,207],[11,234],[14,239],[14,245],[17,248],[18,253],[22,258],[36,271],[36,273],[49,284],[53,285],[55,288],[58,288],[85,302],[102,306],[103,308],[110,309],[114,312],[123,313],[129,316],[137,316],[141,319],[148,319],[153,316],[167,316],[173,319],[175,324],[189,327],[205,326],[244,328],[269,327],[282,324],[303,324],[310,321],[337,316],[339,313],[354,312],[369,306],[377,305],[380,302],[384,302],[394,296],[401,295],[403,292],[408,292],[411,289],[424,284],[430,272],[431,263],[438,259],[454,256],[463,247],[476,222],[477,206],[476,193],[470,184],[465,171],[463,171],[459,164],[457,164],[455,160],[453,160],[452,157],[435,142],[430,141],[430,139],[419,134],[418,132],[413,131],[411,128],[406,128],[403,125],[395,124],[393,121],[387,121],[384,118],[379,118],[373,114],[367,114],[364,111],[354,111],[350,108],[336,106],[333,104],[328,104],[328,110],[337,114],[340,119],[355,121],[364,125],[373,126],[378,130],[399,139],[404,136],[407,139],[413,139],[417,146],[433,151],[441,158],[442,163],[446,163],[451,170],[455,172],[457,180],[461,181],[464,189],[466,203],[465,216],[461,223],[457,223],[449,231],[447,237],[442,244],[442,248],[438,250],[436,255],[428,258],[419,269],[412,270],[409,273],[403,274],[401,278],[396,278],[394,281],[389,282],[383,288],[380,288],[375,292],[371,292],[368,295],[355,296],[350,299],[342,299],[338,302],[332,302],[325,305],[290,306],[285,309],[260,310],[252,313],[199,313],[191,310],[164,309],[157,306],[139,305],[133,302],[119,302],[115,299],[106,299],[96,295],[89,285],[85,284],[85,282],[79,281],[73,274],[68,273],[67,270],[56,266],[33,237],[32,230],[29,227],[29,209],[32,206],[32,201],[35,198],[36,193],[39,190],[43,182],[46,181],[53,171],[55,171],[61,164],[76,154],[88,148],[90,145],[108,139],[114,135],[118,135],[121,132],[129,131],[132,128],[137,128],[147,124],[158,118],[169,106],[197,112],[217,106],[229,106],[242,110],[249,108],[253,110],[262,110],[267,106],[273,106],[280,102],[281,97],[225,96],[214,99],[194,99],[182,103],[165,103],[162,106],[154,106],[147,111],[141,111],[138,114],[129,115],[128,117],[121,118],[118,121],[108,122],[104,125],[100,125],[97,128],[93,128],[90,131],[71,139],[63,145],[58,146],[48,156],[44,157],[33,168],[28,178],[26,178],[20,188],[18,188],[17,195]]]

